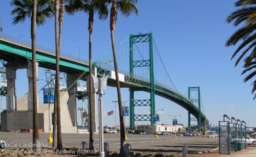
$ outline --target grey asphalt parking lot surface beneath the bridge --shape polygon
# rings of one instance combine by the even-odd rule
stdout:
[[[45,146],[51,147],[47,143],[49,134],[41,133],[40,142]],[[99,135],[94,135],[95,148],[99,146]],[[3,133],[0,132],[0,139],[7,144],[29,144],[32,142],[31,133]],[[80,147],[80,143],[86,141],[89,143],[89,134],[62,134],[63,147]],[[120,135],[104,134],[104,142],[109,143],[110,150],[115,151],[120,148]],[[202,139],[201,137],[177,137],[165,135],[132,135],[127,134],[127,143],[130,143],[133,151],[150,151],[150,152],[182,152],[182,146],[187,145],[189,152],[210,151],[219,146],[218,139]]]

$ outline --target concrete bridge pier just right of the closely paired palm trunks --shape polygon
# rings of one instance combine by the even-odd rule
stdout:
[[[73,86],[69,89],[69,100],[68,100],[68,109],[71,118],[71,122],[73,126],[77,126],[76,120],[76,91],[77,91],[77,74],[67,73],[67,88],[69,88],[72,84]]]

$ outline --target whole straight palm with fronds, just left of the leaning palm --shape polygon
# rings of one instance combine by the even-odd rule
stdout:
[[[93,21],[94,13],[97,12],[99,19],[104,20],[108,17],[108,7],[106,1],[103,0],[73,0],[70,1],[69,5],[66,6],[68,13],[74,15],[77,11],[83,11],[89,14],[88,18],[88,31],[89,31],[89,120],[90,120],[90,140],[89,140],[89,150],[93,150],[93,123],[94,119],[90,117],[95,117],[93,112],[92,104],[92,32],[93,32]]]

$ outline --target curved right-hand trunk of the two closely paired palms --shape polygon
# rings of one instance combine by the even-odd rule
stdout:
[[[60,43],[62,33],[62,23],[64,16],[64,0],[61,0],[59,10],[59,41],[58,41],[58,53],[56,54],[56,96],[57,96],[57,149],[62,150],[62,137],[61,137],[61,119],[60,119],[60,94],[59,94],[59,54],[60,54]]]

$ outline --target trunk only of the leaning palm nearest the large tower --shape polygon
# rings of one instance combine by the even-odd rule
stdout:
[[[110,13],[110,30],[111,30],[111,43],[113,50],[113,59],[114,59],[114,67],[116,73],[116,89],[117,89],[117,97],[118,97],[118,108],[119,108],[119,119],[120,119],[120,152],[119,155],[125,155],[125,131],[124,131],[124,121],[123,121],[123,109],[122,109],[122,98],[121,98],[121,89],[118,75],[118,65],[117,65],[117,57],[116,57],[116,48],[115,48],[115,38],[114,38],[114,30],[117,19],[117,3],[116,1],[112,3],[111,13]]]

